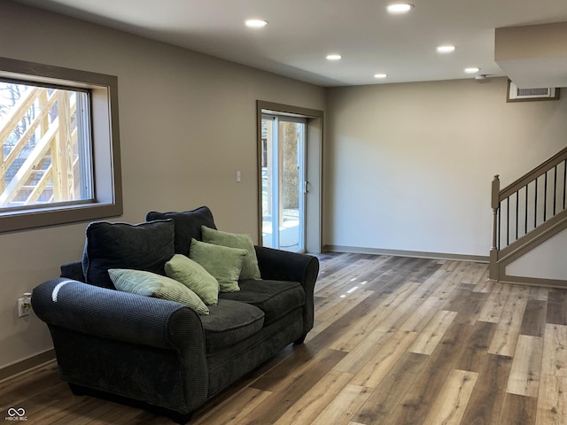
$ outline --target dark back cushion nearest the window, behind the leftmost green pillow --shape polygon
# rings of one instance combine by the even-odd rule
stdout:
[[[82,254],[85,282],[114,289],[109,268],[131,268],[165,274],[164,266],[174,255],[173,220],[141,224],[95,221],[86,230]]]

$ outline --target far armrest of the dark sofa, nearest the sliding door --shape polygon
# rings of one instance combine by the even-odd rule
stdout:
[[[262,279],[299,282],[305,291],[303,309],[303,337],[313,328],[315,321],[315,282],[319,274],[319,259],[300,254],[254,246]]]

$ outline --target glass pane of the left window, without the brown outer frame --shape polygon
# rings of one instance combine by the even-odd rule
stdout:
[[[0,80],[0,210],[94,199],[89,98]]]

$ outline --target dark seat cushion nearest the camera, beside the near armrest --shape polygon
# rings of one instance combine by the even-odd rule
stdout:
[[[229,299],[219,299],[217,305],[209,306],[209,312],[201,317],[207,352],[237,344],[264,325],[264,313],[259,308]]]

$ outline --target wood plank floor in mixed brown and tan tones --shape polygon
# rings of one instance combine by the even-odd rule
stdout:
[[[315,328],[195,413],[194,425],[567,424],[567,290],[487,265],[323,254]],[[76,397],[54,363],[0,383],[27,423],[171,424]]]

